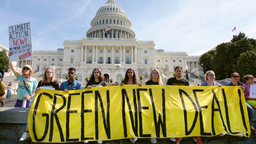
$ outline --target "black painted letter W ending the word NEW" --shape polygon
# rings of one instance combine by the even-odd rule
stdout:
[[[161,128],[162,128],[163,136],[166,137],[165,91],[164,91],[164,89],[162,89],[163,121],[162,121],[162,118],[161,118],[160,113],[159,113],[159,115],[158,115],[158,121],[157,121],[157,119],[156,119],[156,117],[157,117],[157,116],[156,116],[156,108],[155,108],[155,103],[154,103],[154,99],[153,99],[153,94],[152,94],[151,88],[149,88],[149,95],[150,95],[151,104],[152,104],[152,108],[153,108],[153,116],[154,116],[156,137],[160,137],[160,126],[161,126]]]

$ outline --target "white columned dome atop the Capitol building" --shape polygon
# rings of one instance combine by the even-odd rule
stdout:
[[[105,36],[105,29],[110,26],[110,34]],[[123,38],[134,39],[132,23],[124,9],[115,0],[108,0],[97,11],[87,31],[87,38]]]

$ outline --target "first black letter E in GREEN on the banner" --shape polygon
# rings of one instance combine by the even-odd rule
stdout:
[[[80,93],[72,93],[68,94],[68,101],[67,101],[67,112],[66,112],[66,142],[77,142],[79,138],[71,138],[69,139],[69,113],[77,113],[77,110],[69,110],[71,104],[71,96],[72,95],[80,95]]]

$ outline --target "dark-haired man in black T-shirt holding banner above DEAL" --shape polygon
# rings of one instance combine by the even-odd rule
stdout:
[[[182,67],[181,66],[176,66],[174,71],[175,71],[175,77],[169,78],[167,80],[166,85],[189,86],[189,81],[182,78],[182,73],[183,73]],[[170,139],[175,144],[179,144],[182,137],[175,137],[175,138],[171,137]]]

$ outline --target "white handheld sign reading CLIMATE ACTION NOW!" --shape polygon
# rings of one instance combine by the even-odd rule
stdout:
[[[33,58],[30,22],[9,26],[9,50],[10,61]]]

